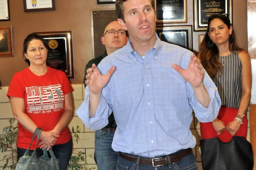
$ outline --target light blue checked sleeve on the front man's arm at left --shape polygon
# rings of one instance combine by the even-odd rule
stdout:
[[[90,90],[85,88],[84,102],[76,111],[77,116],[82,120],[84,125],[90,130],[100,130],[108,125],[108,117],[112,113],[109,85],[102,89],[101,99],[96,113],[92,118],[89,118],[89,98]]]

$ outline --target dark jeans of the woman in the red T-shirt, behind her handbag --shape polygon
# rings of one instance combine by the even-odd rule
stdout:
[[[31,156],[34,150],[29,150],[29,155]],[[69,142],[64,144],[56,144],[52,147],[52,151],[57,159],[59,159],[60,163],[60,170],[67,170],[67,165],[70,161],[70,157],[72,154],[72,139],[70,139]],[[26,152],[26,149],[17,147],[17,160],[20,159],[21,156],[23,156]],[[42,149],[36,150],[36,156],[40,158],[44,155],[44,152]],[[48,152],[49,158],[51,157]]]

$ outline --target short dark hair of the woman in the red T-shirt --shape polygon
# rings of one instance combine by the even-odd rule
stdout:
[[[41,37],[40,35],[35,34],[35,33],[29,34],[25,38],[24,43],[23,43],[23,58],[24,58],[25,62],[27,62],[29,65],[30,65],[30,62],[29,62],[29,59],[27,59],[25,57],[25,53],[28,50],[29,42],[31,42],[32,40],[41,40],[43,42],[45,48],[47,48],[47,50],[48,50],[48,44],[47,44],[46,40],[43,39],[43,37]]]

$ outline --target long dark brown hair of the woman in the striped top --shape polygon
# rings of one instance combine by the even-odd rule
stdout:
[[[208,26],[207,26],[207,32],[205,33],[204,39],[202,40],[201,44],[200,44],[200,60],[201,60],[201,64],[203,65],[205,71],[209,74],[209,76],[211,78],[214,78],[216,76],[221,76],[222,74],[222,65],[218,59],[218,46],[217,45],[213,45],[212,48],[209,48],[207,46],[207,43],[211,40],[208,33],[209,33],[209,27],[210,27],[210,23],[212,20],[214,19],[220,19],[223,21],[223,23],[225,23],[227,25],[227,28],[230,28],[231,23],[230,20],[228,19],[228,17],[224,14],[218,14],[218,15],[212,15],[211,17],[208,18]],[[232,39],[230,41],[230,39]],[[235,31],[234,29],[232,30],[232,34],[229,37],[229,42],[230,42],[230,46],[229,46],[229,50],[232,53],[239,53],[241,51],[243,51],[242,48],[240,48],[237,43],[236,43],[236,35],[235,35]],[[217,74],[220,75],[217,75]]]

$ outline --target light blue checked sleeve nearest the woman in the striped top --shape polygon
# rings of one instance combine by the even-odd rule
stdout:
[[[209,75],[204,71],[204,80],[203,84],[206,88],[209,97],[211,99],[208,108],[205,108],[203,105],[201,105],[200,102],[195,97],[194,90],[192,86],[187,83],[187,96],[189,99],[189,104],[191,108],[195,112],[195,116],[198,118],[199,122],[212,122],[216,117],[218,116],[218,112],[221,108],[221,99],[218,94],[218,89],[212,79],[209,77]]]

